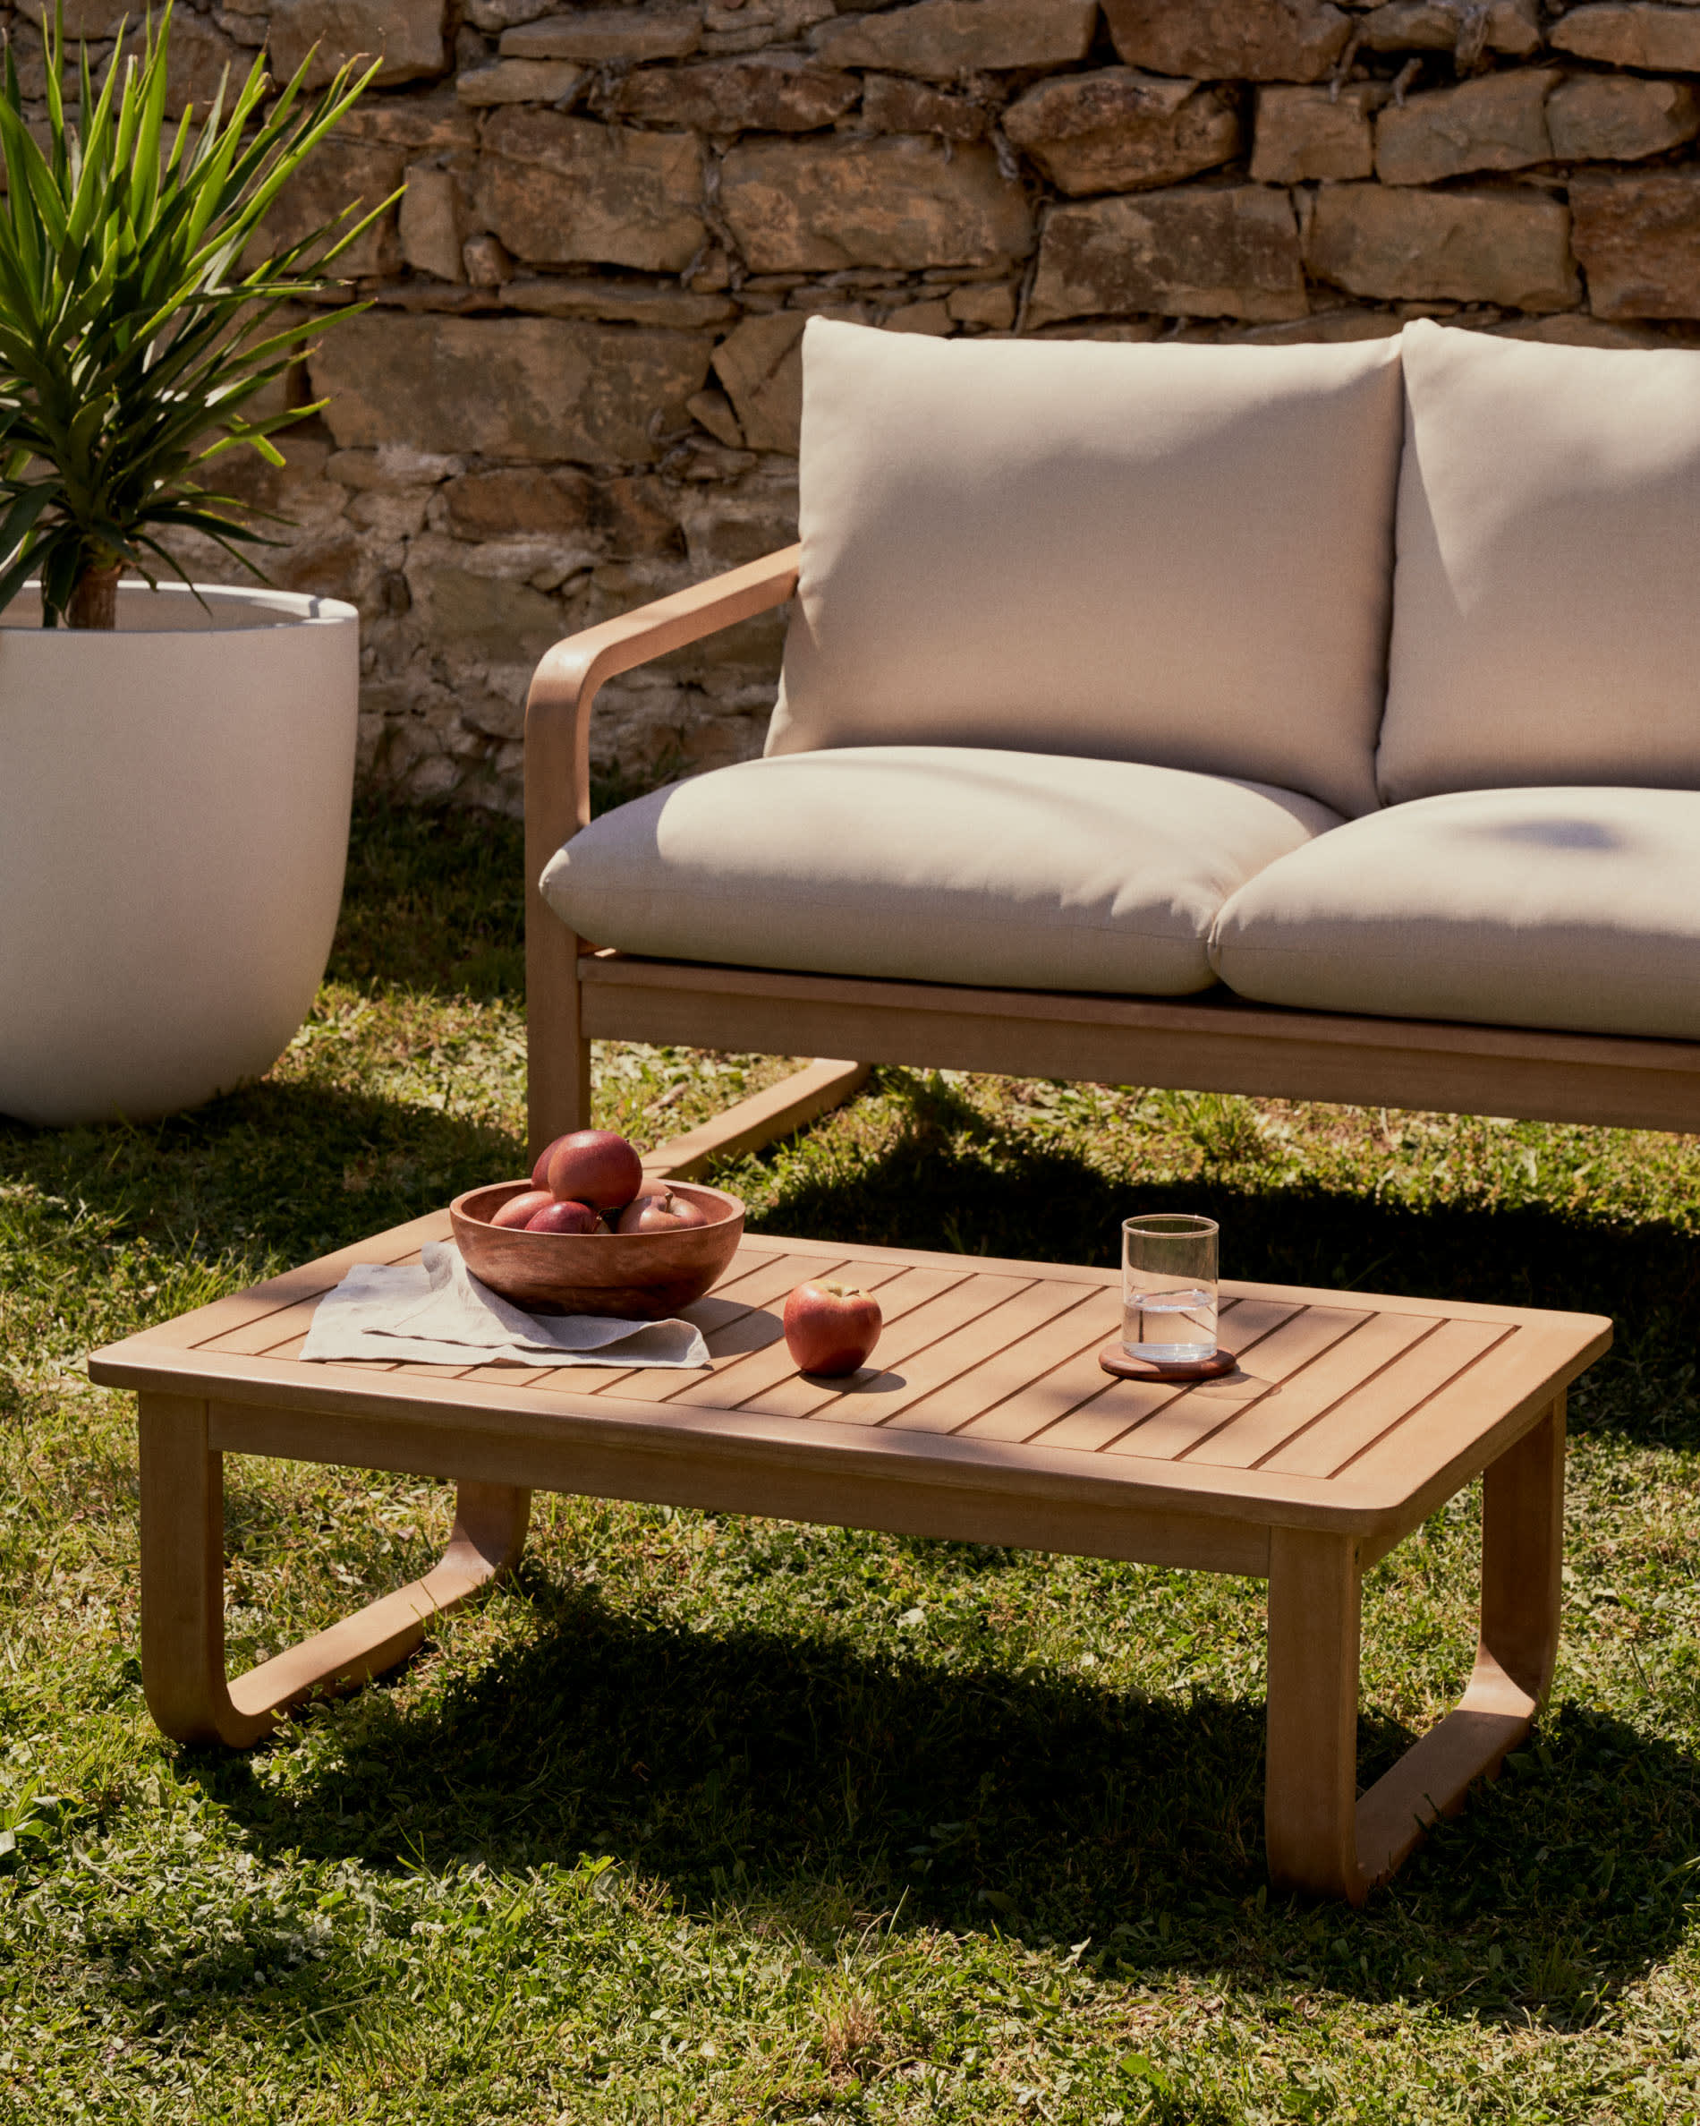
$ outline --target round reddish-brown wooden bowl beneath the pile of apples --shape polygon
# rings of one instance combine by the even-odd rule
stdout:
[[[531,1314],[665,1320],[725,1276],[744,1237],[737,1197],[695,1182],[667,1186],[699,1203],[710,1222],[676,1233],[527,1233],[489,1222],[508,1197],[529,1186],[527,1178],[468,1188],[448,1205],[448,1222],[472,1276]]]

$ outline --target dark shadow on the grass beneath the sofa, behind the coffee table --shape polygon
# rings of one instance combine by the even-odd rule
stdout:
[[[1258,1165],[1150,1184],[1001,1133],[948,1082],[886,1072],[882,1084],[907,1103],[886,1157],[850,1182],[799,1171],[752,1231],[1109,1269],[1128,1212],[1203,1212],[1222,1227],[1224,1276],[1254,1284],[1609,1314],[1617,1346],[1572,1390],[1572,1431],[1700,1446],[1700,1237],[1668,1220],[1470,1201],[1413,1210]]]

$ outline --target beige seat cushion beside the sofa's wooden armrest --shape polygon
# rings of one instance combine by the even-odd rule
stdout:
[[[1177,767],[854,746],[606,812],[542,891],[580,938],[659,959],[1186,995],[1228,893],[1332,825]]]

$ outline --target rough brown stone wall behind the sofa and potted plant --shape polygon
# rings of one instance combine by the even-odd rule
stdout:
[[[406,183],[374,308],[246,480],[274,580],[359,604],[363,761],[416,799],[514,810],[550,640],[795,536],[812,313],[1700,340],[1700,0],[178,0],[176,100],[268,38],[385,55],[280,210]],[[610,685],[599,765],[759,750],[780,631]]]

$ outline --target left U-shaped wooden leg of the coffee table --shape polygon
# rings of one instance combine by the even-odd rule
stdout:
[[[246,1748],[314,1690],[351,1690],[410,1654],[429,1622],[518,1563],[531,1492],[463,1482],[442,1563],[314,1633],[287,1654],[225,1680],[223,1454],[208,1446],[206,1403],[140,1397],[142,1690],[176,1741]]]

